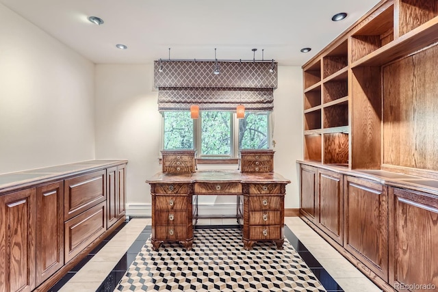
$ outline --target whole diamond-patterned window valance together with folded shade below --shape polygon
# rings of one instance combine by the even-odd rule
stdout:
[[[158,109],[189,110],[196,104],[201,110],[235,110],[243,104],[248,111],[272,111],[276,62],[219,61],[219,75],[214,68],[211,61],[155,61]]]

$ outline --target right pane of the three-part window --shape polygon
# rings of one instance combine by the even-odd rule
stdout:
[[[269,142],[267,112],[246,112],[239,120],[239,149],[267,149]]]

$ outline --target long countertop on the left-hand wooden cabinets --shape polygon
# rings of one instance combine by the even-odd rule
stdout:
[[[49,166],[47,168],[36,168],[33,170],[0,174],[0,193],[29,187],[35,185],[35,183],[46,183],[48,181],[66,178],[67,176],[109,168],[123,163],[127,163],[127,160],[88,160]]]

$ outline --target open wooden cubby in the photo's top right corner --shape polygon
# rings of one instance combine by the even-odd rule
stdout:
[[[438,16],[436,0],[400,0],[400,36]]]

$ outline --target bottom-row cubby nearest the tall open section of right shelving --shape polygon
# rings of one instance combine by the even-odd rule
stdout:
[[[324,134],[324,164],[348,164],[348,134]]]

